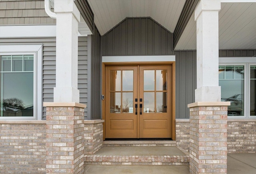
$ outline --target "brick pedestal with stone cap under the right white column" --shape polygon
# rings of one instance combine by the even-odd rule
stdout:
[[[227,173],[229,102],[196,102],[190,108],[190,173]]]

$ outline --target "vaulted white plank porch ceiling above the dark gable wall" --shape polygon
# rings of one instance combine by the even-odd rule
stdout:
[[[185,2],[186,0],[88,0],[101,35],[126,17],[151,17],[174,32]]]

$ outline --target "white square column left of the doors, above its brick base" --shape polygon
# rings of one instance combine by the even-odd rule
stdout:
[[[78,22],[74,0],[54,0],[56,13],[56,87],[54,102],[79,103]]]

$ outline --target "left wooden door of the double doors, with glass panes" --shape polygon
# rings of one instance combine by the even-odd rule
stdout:
[[[106,67],[106,138],[137,138],[138,66]]]

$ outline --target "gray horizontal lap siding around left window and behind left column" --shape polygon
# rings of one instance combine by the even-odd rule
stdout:
[[[43,44],[42,62],[42,100],[53,102],[53,88],[56,84],[56,38],[1,38],[0,45]],[[87,37],[78,38],[78,89],[80,102],[87,104]],[[85,119],[87,112],[85,108]],[[42,118],[46,119],[46,108],[43,107]]]

